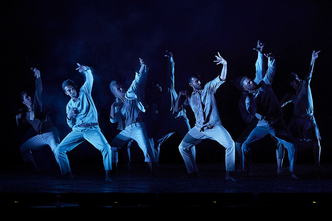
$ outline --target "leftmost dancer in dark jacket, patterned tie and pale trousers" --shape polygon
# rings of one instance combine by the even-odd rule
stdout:
[[[41,74],[38,69],[33,69],[36,77],[36,91],[34,96],[29,96],[27,91],[21,93],[22,103],[27,105],[27,112],[16,115],[16,123],[19,126],[20,123],[31,124],[31,126],[37,131],[38,135],[28,139],[20,146],[20,151],[24,162],[28,162],[32,167],[34,173],[39,173],[36,161],[31,153],[31,150],[40,149],[44,145],[51,147],[53,153],[55,148],[59,145],[60,137],[59,132],[54,126],[49,113],[45,112],[45,108],[41,99],[42,84]],[[25,117],[23,116],[25,115]],[[22,120],[20,120],[22,119]],[[55,159],[58,159],[55,155]]]

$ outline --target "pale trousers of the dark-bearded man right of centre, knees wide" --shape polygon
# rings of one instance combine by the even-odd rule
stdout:
[[[193,127],[180,143],[179,150],[183,160],[185,161],[188,173],[194,173],[198,171],[191,148],[194,145],[200,143],[203,139],[216,140],[226,148],[226,171],[234,171],[235,143],[221,124],[215,124],[212,126],[212,128],[205,129],[203,132],[201,132],[200,129],[196,126]]]

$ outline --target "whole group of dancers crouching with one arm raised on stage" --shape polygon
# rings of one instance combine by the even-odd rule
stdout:
[[[124,149],[124,161],[129,167],[129,146],[135,140],[142,149],[145,162],[150,168],[150,177],[155,177],[155,166],[158,165],[159,151],[162,143],[172,134],[179,132],[183,140],[179,145],[180,153],[188,170],[187,177],[199,178],[200,174],[195,162],[195,145],[203,139],[212,139],[225,147],[226,180],[236,181],[232,172],[235,171],[235,160],[239,160],[241,171],[251,176],[251,152],[258,140],[270,135],[276,145],[278,174],[284,174],[282,160],[284,149],[288,150],[290,176],[298,178],[295,173],[296,145],[294,138],[313,140],[313,151],[316,166],[320,168],[320,136],[313,117],[313,102],[310,90],[310,80],[315,59],[320,51],[313,51],[309,71],[304,80],[294,73],[290,74],[288,83],[293,91],[286,93],[279,102],[271,88],[276,71],[275,57],[272,53],[263,54],[264,44],[260,41],[254,48],[258,52],[256,61],[256,76],[238,77],[234,79],[235,86],[241,90],[239,109],[243,120],[248,124],[241,136],[233,141],[230,134],[222,126],[217,110],[214,94],[225,82],[227,62],[219,52],[215,56],[217,65],[222,64],[220,75],[212,81],[202,84],[198,73],[191,73],[188,83],[193,91],[181,90],[179,95],[174,88],[173,54],[166,51],[168,60],[165,85],[159,85],[156,80],[148,79],[148,67],[139,58],[140,69],[135,73],[135,79],[128,89],[117,81],[111,81],[110,90],[115,96],[111,106],[110,121],[118,122],[121,132],[110,142],[106,140],[98,126],[98,114],[91,97],[93,75],[89,67],[77,63],[78,72],[85,75],[85,83],[78,88],[71,80],[62,84],[64,93],[70,96],[66,106],[66,120],[72,131],[60,142],[59,132],[54,126],[49,112],[43,106],[41,94],[41,74],[36,68],[31,70],[36,77],[34,94],[28,91],[21,93],[22,103],[26,111],[16,116],[17,125],[31,124],[38,135],[28,139],[20,146],[25,162],[33,171],[39,169],[31,153],[44,145],[51,147],[61,170],[62,178],[72,179],[67,152],[87,140],[103,155],[106,181],[114,181],[110,171],[118,174],[118,151]],[[265,73],[264,56],[268,59],[268,70]],[[283,120],[282,106],[294,103],[294,117],[289,127]],[[190,128],[186,109],[191,108],[196,117],[196,123]],[[155,122],[158,122],[157,124]],[[156,125],[158,128],[156,129]],[[113,165],[112,165],[113,164]]]

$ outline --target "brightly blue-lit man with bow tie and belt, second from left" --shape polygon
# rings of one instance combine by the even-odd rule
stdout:
[[[62,83],[65,94],[70,96],[67,104],[67,123],[73,129],[55,149],[55,154],[59,158],[61,174],[68,173],[68,178],[74,178],[71,173],[69,161],[66,152],[75,148],[78,144],[88,140],[92,145],[102,152],[104,167],[106,170],[106,181],[113,181],[110,177],[112,170],[112,152],[111,147],[101,133],[98,126],[98,114],[96,106],[91,97],[93,76],[91,69],[87,66],[77,63],[78,72],[85,74],[85,83],[77,91],[76,84],[71,80]]]

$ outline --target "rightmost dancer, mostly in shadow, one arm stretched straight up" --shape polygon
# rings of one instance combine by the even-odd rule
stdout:
[[[313,51],[311,55],[311,62],[309,71],[304,80],[300,80],[295,73],[290,73],[288,83],[294,89],[294,93],[288,92],[280,101],[283,106],[289,102],[294,104],[294,116],[289,124],[290,133],[293,138],[299,140],[313,140],[313,155],[315,164],[319,170],[322,168],[319,165],[320,160],[320,135],[313,116],[313,101],[310,89],[310,81],[313,71],[315,59],[318,57],[320,51]]]

